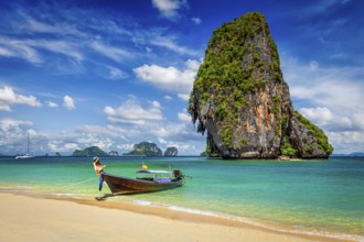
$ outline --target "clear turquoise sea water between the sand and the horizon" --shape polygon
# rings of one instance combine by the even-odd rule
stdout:
[[[204,157],[107,157],[108,173],[135,176],[179,168],[182,188],[108,199],[163,206],[184,212],[242,220],[293,233],[364,241],[364,157],[328,161],[225,161]],[[0,158],[0,191],[89,198],[98,191],[92,157]],[[101,202],[101,201],[100,201]]]

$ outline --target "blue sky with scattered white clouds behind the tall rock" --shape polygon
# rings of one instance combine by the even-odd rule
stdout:
[[[141,141],[200,154],[186,113],[212,32],[265,14],[293,107],[334,153],[364,152],[360,0],[0,0],[0,154],[63,155]]]

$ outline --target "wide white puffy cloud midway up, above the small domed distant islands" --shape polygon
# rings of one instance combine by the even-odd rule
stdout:
[[[150,107],[142,108],[135,98],[128,99],[118,108],[109,106],[104,108],[111,123],[142,125],[147,120],[162,120],[161,106],[158,101],[150,102]]]

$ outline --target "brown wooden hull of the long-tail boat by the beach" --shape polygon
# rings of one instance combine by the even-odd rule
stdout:
[[[111,193],[115,195],[151,193],[158,190],[173,189],[183,185],[183,177],[171,180],[169,183],[158,183],[142,179],[133,179],[124,176],[116,176],[108,173],[103,173],[101,176]]]

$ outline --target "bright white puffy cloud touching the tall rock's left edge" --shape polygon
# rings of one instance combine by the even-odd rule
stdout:
[[[173,66],[161,67],[144,64],[135,68],[133,72],[141,80],[159,89],[175,92],[181,99],[188,100],[200,64],[197,61],[189,59],[182,70]]]

